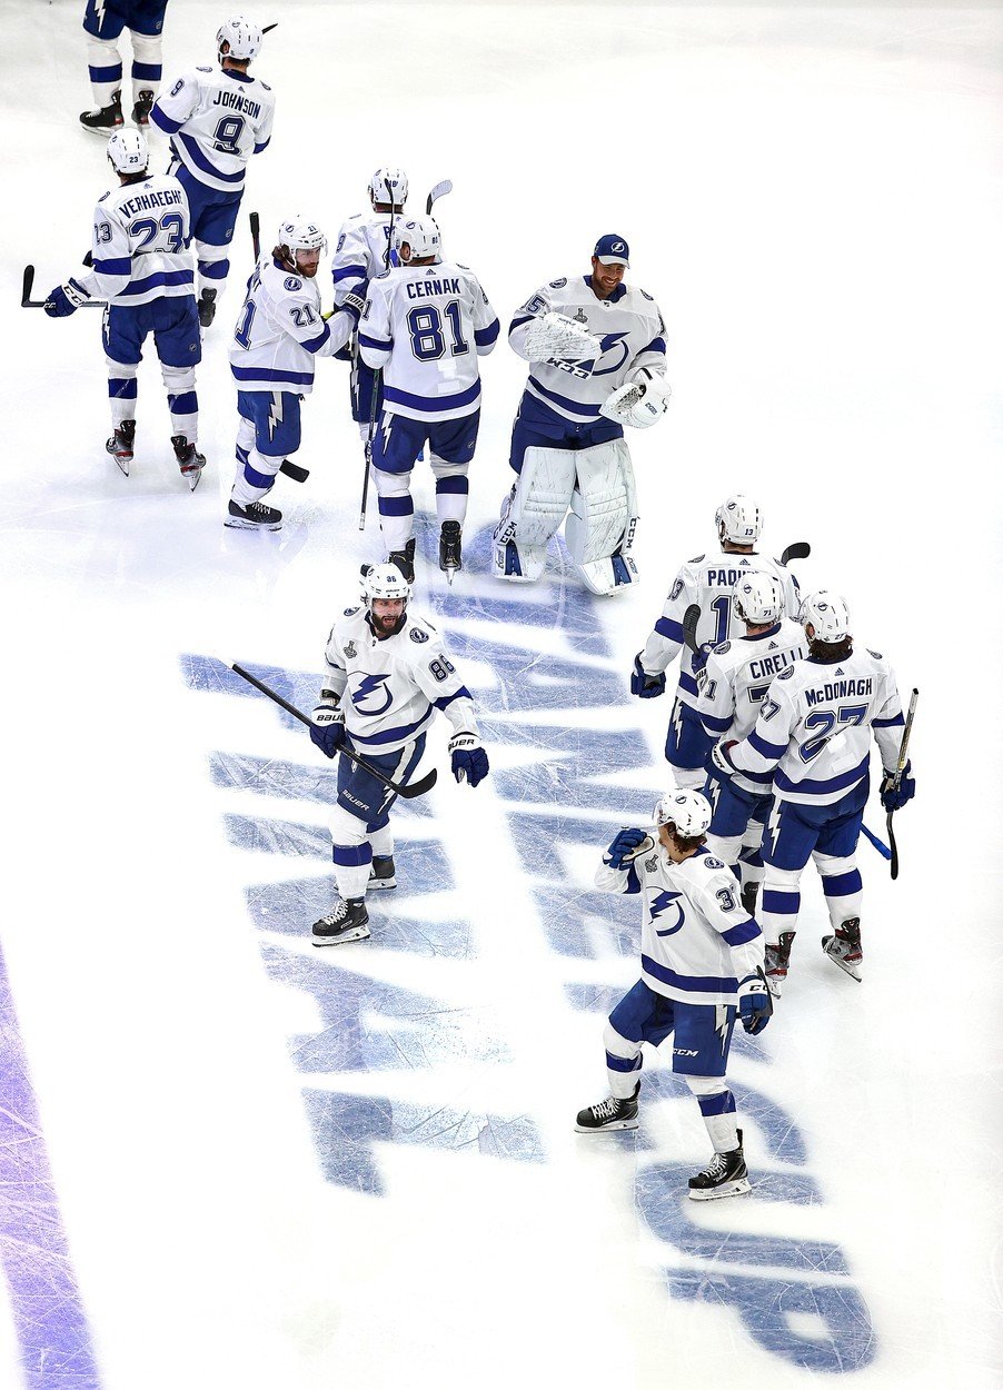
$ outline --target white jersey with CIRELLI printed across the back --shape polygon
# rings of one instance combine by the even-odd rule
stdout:
[[[809,639],[789,617],[754,637],[736,637],[715,646],[697,673],[700,696],[696,712],[711,738],[745,738],[759,717],[770,684],[796,660],[809,655]],[[770,791],[770,773],[736,773],[738,787],[753,794]]]

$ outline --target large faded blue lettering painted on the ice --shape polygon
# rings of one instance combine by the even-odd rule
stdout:
[[[595,860],[613,826],[647,820],[660,769],[650,767],[643,734],[635,727],[627,677],[614,667],[604,638],[602,603],[570,577],[563,549],[552,548],[547,582],[507,589],[486,574],[481,557],[489,552],[488,539],[489,532],[472,538],[471,564],[447,589],[433,569],[433,537],[420,531],[425,564],[417,602],[438,613],[464,667],[489,673],[475,689],[481,727],[492,752],[506,756],[499,756],[497,771],[479,794],[503,803],[531,885],[536,929],[561,963],[565,1022],[589,1015],[600,1058],[603,1017],[622,994],[622,983],[615,981],[622,981],[625,958],[636,954],[636,903],[595,892],[590,869],[586,876],[578,865]],[[435,587],[426,591],[429,578]],[[213,659],[190,655],[182,664],[193,691],[260,698]],[[260,664],[254,670],[293,703],[313,703],[315,673]],[[620,708],[622,727],[610,731],[608,712]],[[270,717],[292,726],[276,706]],[[310,758],[306,748],[303,758]],[[478,947],[471,905],[454,890],[451,855],[461,851],[438,837],[429,808],[397,802],[401,887],[379,897],[378,949],[349,956],[346,948],[345,955],[324,952],[318,959],[307,937],[310,922],[331,901],[322,808],[333,801],[335,771],[264,759],[251,749],[215,752],[208,770],[224,799],[239,796],[244,808],[249,794],[250,801],[261,796],[263,805],[268,799],[261,813],[224,809],[231,842],[289,865],[289,877],[271,874],[247,888],[247,908],[270,979],[310,1001],[310,1017],[317,1020],[310,1031],[289,1036],[289,1049],[303,1076],[304,1105],[326,1179],[381,1195],[376,1145],[388,1143],[520,1163],[553,1161],[543,1126],[532,1115],[467,1111],[447,1099],[457,1095],[457,1076],[506,1066],[511,1058],[506,1038],[496,1036],[495,1017],[467,1002],[478,992]],[[275,813],[276,801],[288,803],[288,816]],[[568,872],[568,863],[575,872]],[[450,981],[443,983],[442,995],[401,986],[392,963],[408,958],[440,960],[443,981]],[[610,979],[597,983],[604,963]],[[458,977],[451,973],[457,970]],[[464,984],[474,986],[468,994]],[[561,1034],[563,1022],[556,1019],[556,1040]],[[692,1159],[679,1162],[664,1141],[660,1148],[657,1125],[607,1136],[656,1243],[649,1244],[646,1258],[657,1250],[670,1297],[728,1309],[760,1347],[788,1364],[828,1373],[859,1371],[877,1346],[846,1254],[835,1241],[800,1234],[799,1209],[825,1205],[809,1170],[804,1140],[770,1095],[768,1055],[759,1040],[736,1033],[732,1055],[736,1101],[754,1126],[759,1152],[753,1193],[735,1204],[740,1215],[724,1202],[714,1204],[711,1216],[692,1213],[686,1198]],[[422,1081],[397,1087],[395,1076]],[[475,1086],[470,1094],[476,1094]],[[647,1070],[646,1115],[677,1102],[692,1105],[688,1090],[668,1070]],[[570,1115],[574,1104],[570,1097]]]

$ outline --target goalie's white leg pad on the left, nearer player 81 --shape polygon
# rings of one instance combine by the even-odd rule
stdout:
[[[543,573],[547,542],[568,510],[577,457],[570,449],[533,445],[525,450],[522,471],[492,534],[492,570],[499,578],[529,582]]]

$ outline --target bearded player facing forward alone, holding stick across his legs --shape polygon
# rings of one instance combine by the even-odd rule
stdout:
[[[324,652],[326,674],[310,730],[333,758],[345,745],[407,784],[425,748],[435,710],[453,727],[453,776],[476,787],[489,771],[474,717],[474,701],[432,624],[408,610],[410,585],[396,564],[363,573],[363,603],[345,610]],[[331,816],[339,899],[314,923],[314,945],[370,935],[365,890],[396,888],[390,806],[395,794],[343,758]]]

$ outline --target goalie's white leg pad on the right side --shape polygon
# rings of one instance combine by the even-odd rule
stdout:
[[[577,486],[564,527],[568,555],[586,588],[615,594],[635,584],[631,556],[638,525],[633,467],[624,439],[608,439],[575,455]]]

